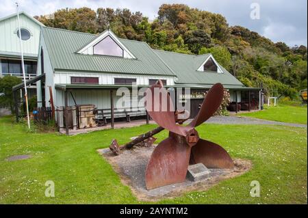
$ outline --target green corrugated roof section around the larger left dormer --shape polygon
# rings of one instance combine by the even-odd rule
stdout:
[[[83,55],[76,51],[97,35],[42,27],[42,36],[54,70],[156,74],[175,76],[150,46],[144,42],[119,39],[136,59]]]

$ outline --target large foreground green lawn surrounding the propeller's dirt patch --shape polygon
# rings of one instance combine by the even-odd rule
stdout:
[[[29,133],[11,117],[0,118],[0,204],[138,204],[129,187],[97,153],[116,137],[129,137],[154,125],[98,131],[67,137]],[[158,203],[307,204],[307,128],[203,124],[199,135],[226,148],[233,158],[250,159],[253,169],[224,180],[208,191],[192,191]],[[159,133],[159,141],[166,137]],[[31,159],[8,162],[15,154]],[[55,197],[45,197],[47,180],[55,182]],[[258,180],[261,197],[251,197]]]

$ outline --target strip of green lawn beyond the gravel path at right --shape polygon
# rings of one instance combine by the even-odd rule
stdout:
[[[307,105],[302,107],[295,107],[291,105],[279,104],[276,107],[265,107],[263,111],[242,113],[241,115],[264,120],[307,124]]]

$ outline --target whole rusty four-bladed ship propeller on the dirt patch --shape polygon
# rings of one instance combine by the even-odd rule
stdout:
[[[216,83],[207,92],[196,118],[187,126],[176,124],[172,100],[159,81],[149,87],[145,107],[151,118],[169,131],[146,166],[146,189],[154,189],[185,180],[188,165],[203,163],[208,168],[232,168],[233,161],[224,148],[200,139],[195,127],[208,120],[220,106],[224,88]]]

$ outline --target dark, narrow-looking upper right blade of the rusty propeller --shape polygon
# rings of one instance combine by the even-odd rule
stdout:
[[[216,83],[211,87],[209,92],[207,92],[201,109],[199,110],[196,118],[190,122],[189,126],[196,127],[200,124],[203,124],[206,120],[208,120],[211,115],[213,115],[222,102],[222,98],[224,96],[224,87],[221,83]]]

